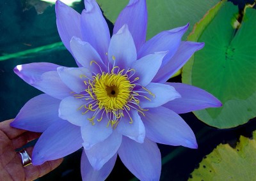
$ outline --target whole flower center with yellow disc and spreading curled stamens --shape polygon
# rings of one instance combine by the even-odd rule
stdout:
[[[84,81],[86,89],[80,94],[74,94],[75,98],[85,101],[84,105],[77,110],[81,111],[83,115],[93,112],[92,117],[87,118],[92,124],[95,124],[95,119],[100,122],[106,116],[109,120],[108,126],[116,127],[125,115],[130,118],[130,123],[132,123],[129,113],[131,109],[137,110],[142,115],[145,115],[143,112],[147,111],[140,107],[139,97],[151,101],[147,96],[141,94],[150,94],[154,98],[154,94],[145,87],[141,86],[144,91],[133,90],[135,86],[140,86],[138,83],[134,83],[139,80],[134,75],[134,69],[125,71],[125,69],[120,70],[118,66],[113,67],[108,73],[101,71],[92,78],[81,75],[81,78],[86,77],[88,80]]]

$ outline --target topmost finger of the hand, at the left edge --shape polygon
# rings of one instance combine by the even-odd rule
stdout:
[[[9,139],[13,139],[17,136],[19,136],[22,133],[25,133],[26,130],[23,129],[17,129],[15,127],[11,127],[10,123],[13,121],[13,119],[4,120],[3,122],[0,122],[0,130],[4,132],[8,136]]]

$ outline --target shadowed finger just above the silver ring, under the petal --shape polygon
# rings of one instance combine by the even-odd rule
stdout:
[[[39,136],[42,133],[35,133],[35,132],[30,132],[27,131],[23,134],[21,134],[20,136],[17,136],[16,138],[14,138],[12,140],[12,144],[13,147],[16,148],[20,148],[23,147],[24,145],[26,145],[26,143],[28,143],[29,141],[35,140],[36,138],[39,138]]]

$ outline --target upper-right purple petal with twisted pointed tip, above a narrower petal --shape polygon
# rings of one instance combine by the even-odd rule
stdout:
[[[154,54],[154,52],[168,51],[168,54],[163,59],[162,66],[164,66],[178,50],[181,38],[187,31],[188,25],[157,34],[141,47],[140,52],[138,52],[138,58]]]

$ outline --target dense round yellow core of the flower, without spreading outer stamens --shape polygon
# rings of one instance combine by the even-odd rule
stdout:
[[[92,83],[92,92],[98,100],[97,105],[100,109],[116,111],[127,104],[133,86],[127,75],[102,73],[102,75],[95,76]]]

